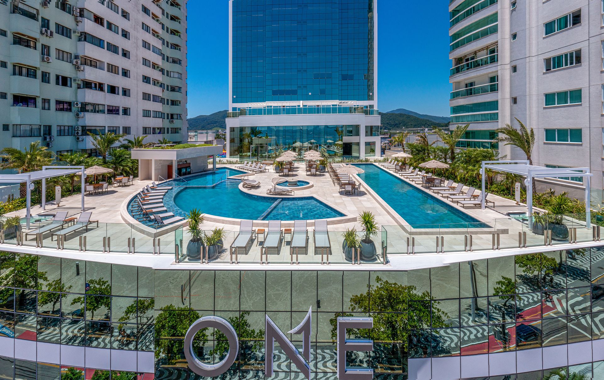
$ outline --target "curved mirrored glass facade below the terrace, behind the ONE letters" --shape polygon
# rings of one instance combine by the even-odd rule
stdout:
[[[335,379],[335,318],[350,316],[373,318],[373,329],[349,335],[373,340],[374,351],[349,354],[348,366],[372,368],[377,378],[406,379],[421,359],[595,345],[604,338],[603,264],[604,248],[412,271],[154,270],[1,253],[0,337],[124,355],[148,352],[155,379],[192,379],[184,335],[198,318],[216,315],[230,321],[240,341],[223,378],[263,378],[265,315],[288,332],[310,308],[313,376]],[[300,349],[300,335],[288,338]],[[205,362],[218,362],[228,351],[223,335],[211,330],[199,332],[194,347]],[[274,355],[276,378],[300,378],[278,347]],[[18,373],[36,379],[36,372],[38,379],[56,379],[59,371],[0,359],[2,379],[22,379]],[[586,355],[580,366],[562,367],[597,379],[602,363],[592,362]],[[533,375],[548,371],[544,364]],[[507,375],[516,378],[515,371]]]

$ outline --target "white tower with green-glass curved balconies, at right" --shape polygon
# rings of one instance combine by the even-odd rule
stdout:
[[[518,118],[535,129],[536,165],[591,167],[603,188],[602,1],[453,0],[449,13],[451,125],[470,123],[460,147],[525,159],[491,142]]]

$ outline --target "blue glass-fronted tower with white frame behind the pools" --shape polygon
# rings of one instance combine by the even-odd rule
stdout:
[[[230,0],[226,150],[380,154],[376,0]]]

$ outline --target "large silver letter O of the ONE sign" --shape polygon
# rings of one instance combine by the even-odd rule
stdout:
[[[205,364],[193,353],[193,338],[199,330],[205,329],[206,327],[220,330],[220,332],[226,335],[226,339],[228,340],[228,355],[216,364]],[[197,373],[199,376],[207,376],[208,378],[222,375],[233,365],[237,358],[237,353],[239,352],[237,333],[235,332],[235,329],[233,329],[233,326],[223,318],[214,316],[199,318],[191,324],[191,327],[189,327],[187,334],[185,335],[184,352],[188,366],[194,373]]]

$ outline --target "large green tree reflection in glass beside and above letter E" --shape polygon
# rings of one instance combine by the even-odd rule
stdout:
[[[378,276],[376,285],[371,285],[367,292],[350,297],[350,311],[372,317],[373,329],[350,329],[349,335],[356,339],[391,344],[389,353],[374,352],[377,360],[387,360],[385,356],[399,356],[400,350],[408,352],[411,331],[429,328],[431,324],[434,328],[449,327],[446,323],[448,315],[437,307],[438,302],[432,300],[434,298],[427,291],[418,293],[413,285],[400,285]],[[353,316],[350,313],[336,313],[329,320],[333,341],[337,337],[337,318]]]

